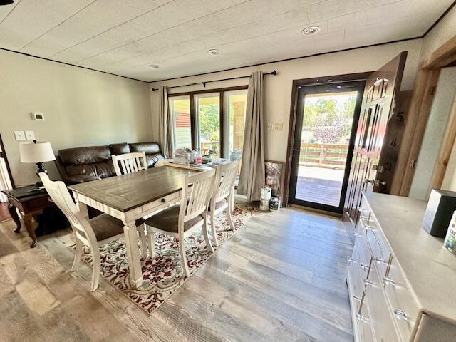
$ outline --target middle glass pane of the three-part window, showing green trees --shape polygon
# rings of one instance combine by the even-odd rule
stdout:
[[[220,94],[195,95],[198,143],[202,155],[219,158],[222,155],[220,139]]]

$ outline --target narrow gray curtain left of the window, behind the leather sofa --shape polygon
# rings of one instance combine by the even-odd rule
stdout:
[[[171,115],[168,110],[168,91],[166,87],[158,87],[158,138],[162,153],[166,158],[172,158],[174,139],[172,138]]]

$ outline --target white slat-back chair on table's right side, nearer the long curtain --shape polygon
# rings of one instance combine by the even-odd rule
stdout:
[[[218,214],[225,212],[229,227],[234,230],[232,205],[234,202],[234,182],[236,182],[238,167],[239,160],[216,166],[215,187],[208,212],[211,215],[212,239],[214,239],[215,246],[219,245],[217,232],[215,231],[215,217]]]

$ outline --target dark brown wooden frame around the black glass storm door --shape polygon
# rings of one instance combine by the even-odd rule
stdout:
[[[335,76],[323,76],[317,78],[301,78],[293,80],[291,90],[291,105],[290,105],[290,120],[288,131],[288,142],[286,145],[286,161],[285,161],[285,181],[284,181],[284,197],[283,205],[288,206],[290,178],[291,178],[291,158],[293,157],[294,133],[296,128],[296,118],[299,100],[299,87],[301,86],[318,86],[328,82],[349,82],[349,81],[366,81],[372,71],[364,73],[348,73]]]

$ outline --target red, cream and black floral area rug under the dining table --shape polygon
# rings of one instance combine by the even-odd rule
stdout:
[[[257,210],[257,208],[247,204],[236,203],[232,215],[234,231],[229,229],[228,220],[224,214],[219,214],[216,217],[215,225],[219,246],[213,246],[215,253]],[[190,235],[185,241],[185,246],[190,276],[192,276],[209,259],[212,253],[207,250],[201,230]],[[69,247],[75,248],[74,244]],[[139,289],[133,289],[125,252],[123,239],[103,245],[100,248],[101,274],[149,314],[152,314],[165,299],[171,296],[188,279],[184,276],[178,242],[175,238],[155,233],[154,257],[141,259],[143,283]],[[92,258],[88,250],[84,250],[83,259],[91,264]]]

